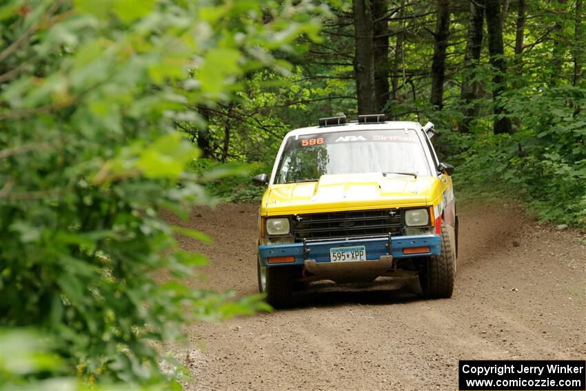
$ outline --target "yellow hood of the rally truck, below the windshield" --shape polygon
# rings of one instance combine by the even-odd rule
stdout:
[[[436,177],[381,173],[323,175],[317,182],[270,186],[261,214],[303,214],[431,205],[441,195]]]

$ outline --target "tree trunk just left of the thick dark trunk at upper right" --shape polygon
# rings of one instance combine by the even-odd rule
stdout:
[[[460,97],[465,101],[464,118],[460,124],[460,132],[469,132],[470,123],[478,116],[478,105],[472,103],[478,97],[478,81],[474,81],[474,73],[481,58],[484,20],[484,0],[470,1],[470,16],[468,19],[468,34],[466,52],[464,54],[464,68],[466,70]]]

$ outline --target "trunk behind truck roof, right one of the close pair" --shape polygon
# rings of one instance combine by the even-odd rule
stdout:
[[[387,12],[386,0],[372,0],[374,20],[383,18]],[[377,112],[383,112],[389,100],[389,23],[374,23],[374,88]]]

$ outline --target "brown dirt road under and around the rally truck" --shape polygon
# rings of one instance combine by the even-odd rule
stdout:
[[[213,245],[205,283],[256,292],[258,205],[198,210]],[[322,285],[288,310],[194,324],[178,347],[188,390],[455,390],[458,359],[585,359],[586,247],[507,205],[463,205],[452,299],[414,279],[368,290]],[[205,346],[197,348],[203,343]]]

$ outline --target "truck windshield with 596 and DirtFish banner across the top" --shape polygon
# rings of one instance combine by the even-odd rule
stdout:
[[[287,139],[275,183],[317,181],[325,174],[383,172],[430,176],[415,130],[360,130]]]

